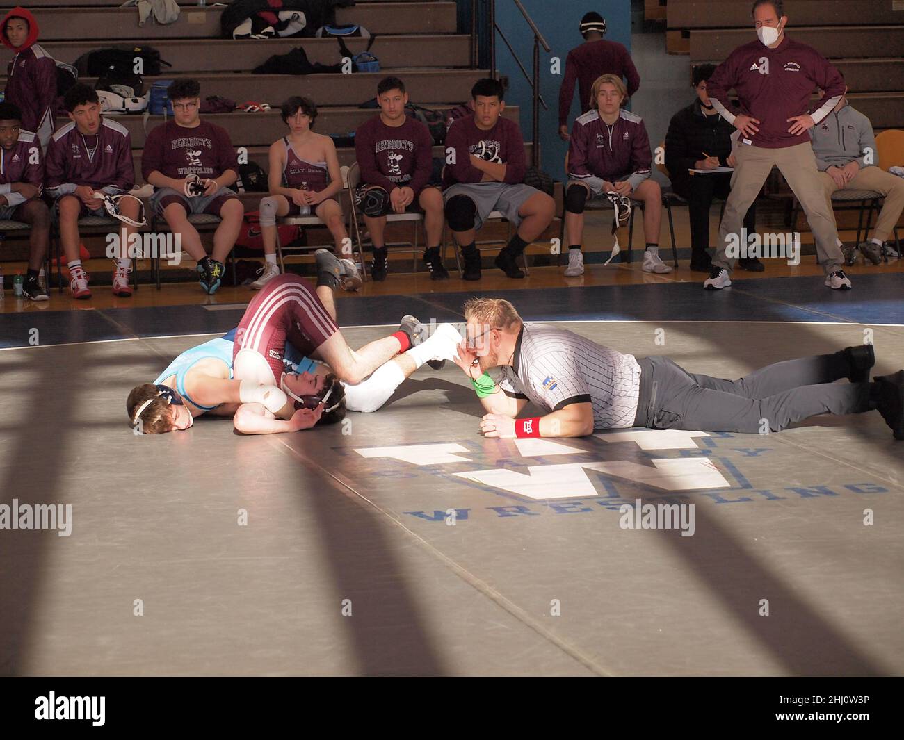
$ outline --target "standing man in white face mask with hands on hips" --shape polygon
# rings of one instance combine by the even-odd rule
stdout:
[[[832,212],[807,130],[826,117],[844,94],[841,74],[810,46],[786,37],[787,16],[782,0],[756,0],[752,10],[758,41],[739,46],[712,73],[707,93],[712,104],[740,132],[737,165],[719,229],[719,248],[704,287],[731,285],[735,258],[726,249],[737,240],[741,220],[776,165],[800,201],[816,243],[816,256],[825,271],[825,285],[850,288]],[[810,96],[823,89],[823,98],[810,115]],[[738,93],[739,108],[728,91]]]

